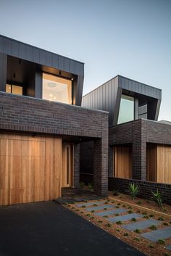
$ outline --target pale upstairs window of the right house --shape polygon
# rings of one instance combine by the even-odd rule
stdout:
[[[132,120],[134,120],[134,98],[122,94],[117,123],[125,123]]]

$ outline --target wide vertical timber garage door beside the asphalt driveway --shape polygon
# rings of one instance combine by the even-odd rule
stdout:
[[[0,205],[60,197],[62,140],[0,134]]]

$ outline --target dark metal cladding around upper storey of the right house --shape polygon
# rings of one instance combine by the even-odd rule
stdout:
[[[117,125],[122,94],[135,96],[137,106],[135,119],[144,117],[150,120],[158,119],[162,91],[159,88],[139,83],[121,75],[117,75],[83,96],[82,106],[109,111],[109,125]],[[145,113],[147,104],[148,113],[147,111]],[[141,112],[139,115],[138,107],[140,107],[139,111]]]

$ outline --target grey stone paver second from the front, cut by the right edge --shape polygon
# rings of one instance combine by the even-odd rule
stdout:
[[[150,241],[158,241],[159,239],[167,239],[171,237],[171,227],[162,228],[156,231],[151,231],[142,234],[141,236],[149,239]]]

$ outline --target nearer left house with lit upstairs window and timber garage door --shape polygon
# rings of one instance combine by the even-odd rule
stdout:
[[[84,64],[0,36],[0,205],[61,197],[93,141],[94,191],[108,191],[108,112],[81,107]]]

